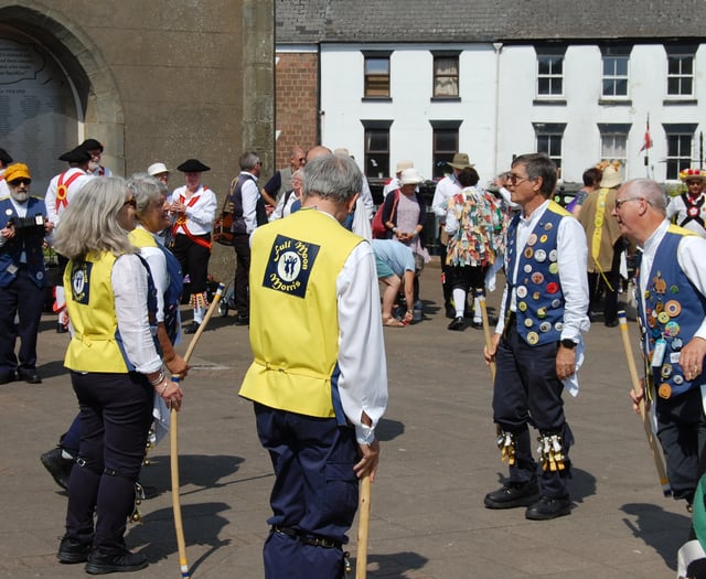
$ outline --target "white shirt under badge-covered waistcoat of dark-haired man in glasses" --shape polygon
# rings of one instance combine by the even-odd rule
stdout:
[[[527,243],[527,237],[537,225],[544,212],[549,205],[549,200],[539,205],[530,216],[525,218],[522,214],[517,224],[517,243],[515,254],[521,255]],[[588,320],[588,279],[586,277],[586,262],[588,259],[588,245],[584,227],[574,217],[565,217],[559,222],[556,238],[557,266],[559,268],[559,283],[564,293],[564,328],[561,329],[561,340],[574,340],[581,342],[581,333],[590,328]],[[517,279],[517,267],[520,259],[515,259],[515,269],[507,272],[512,276],[513,286]],[[505,256],[505,271],[507,271],[507,256]],[[495,333],[501,334],[505,326],[505,308],[507,303],[507,285],[503,291],[500,317]],[[516,311],[516,296],[513,289],[510,303],[511,311]]]

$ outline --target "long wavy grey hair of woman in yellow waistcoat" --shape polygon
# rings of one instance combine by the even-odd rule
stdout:
[[[128,187],[120,176],[100,176],[82,186],[62,213],[54,246],[68,259],[84,260],[92,251],[137,254],[128,232],[118,223]]]

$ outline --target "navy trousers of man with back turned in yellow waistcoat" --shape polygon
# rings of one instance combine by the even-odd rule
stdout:
[[[347,543],[359,500],[357,444],[352,428],[333,418],[312,418],[255,404],[257,433],[275,469],[270,494],[279,528],[307,537]],[[270,533],[263,549],[267,579],[339,579],[343,551],[308,545],[285,533]]]

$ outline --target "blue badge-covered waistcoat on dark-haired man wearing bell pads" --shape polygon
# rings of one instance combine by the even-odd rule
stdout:
[[[520,217],[517,214],[510,222],[506,248],[507,285],[510,290],[515,290],[517,333],[532,346],[558,342],[564,328],[565,299],[559,282],[557,232],[561,219],[570,214],[550,201],[521,253],[517,250]],[[515,262],[517,276],[513,285]],[[510,311],[510,298],[511,291],[506,311]]]

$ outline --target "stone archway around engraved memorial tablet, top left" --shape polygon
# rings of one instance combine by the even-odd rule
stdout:
[[[11,112],[0,124],[0,147],[31,162],[33,193],[42,195],[65,168],[56,157],[87,137],[105,144],[104,162],[124,174],[122,105],[90,37],[36,1],[0,8],[0,118]]]

